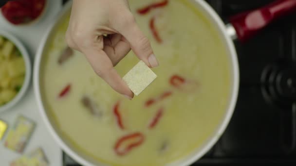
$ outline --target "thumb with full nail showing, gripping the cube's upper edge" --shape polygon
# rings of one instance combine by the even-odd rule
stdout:
[[[128,40],[131,50],[147,66],[157,67],[159,65],[151,48],[150,41],[142,33],[134,18],[132,21],[129,21],[128,26],[125,26],[123,30],[118,32]]]

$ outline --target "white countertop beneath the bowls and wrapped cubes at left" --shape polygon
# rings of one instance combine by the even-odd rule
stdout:
[[[61,10],[61,4],[61,0],[48,0],[46,12],[40,18],[40,20],[26,26],[12,26],[7,23],[2,15],[0,15],[0,29],[12,33],[21,40],[31,55],[32,65],[40,40],[46,29],[50,24],[52,24],[57,13]],[[18,105],[14,106],[11,110],[0,113],[0,119],[7,122],[10,129],[16,117],[19,115],[26,116],[34,120],[36,123],[34,133],[25,147],[23,154],[41,147],[49,160],[50,166],[62,166],[62,150],[58,147],[53,137],[47,131],[47,128],[42,121],[41,116],[39,115],[37,102],[35,100],[33,91],[32,78],[27,93],[21,99]],[[9,163],[12,160],[20,156],[19,153],[16,153],[10,149],[6,149],[3,145],[9,129],[5,133],[4,138],[0,140],[0,166],[9,166]]]

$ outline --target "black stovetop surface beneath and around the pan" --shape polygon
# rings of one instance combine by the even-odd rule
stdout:
[[[206,1],[227,23],[273,0]],[[296,165],[295,20],[296,14],[282,18],[246,43],[235,41],[240,91],[234,114],[216,145],[192,166]]]

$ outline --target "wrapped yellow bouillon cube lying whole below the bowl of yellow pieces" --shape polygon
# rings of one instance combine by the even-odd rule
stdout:
[[[32,120],[24,116],[19,116],[7,135],[5,147],[17,152],[22,152],[34,128],[35,123]]]

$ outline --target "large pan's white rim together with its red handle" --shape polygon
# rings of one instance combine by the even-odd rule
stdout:
[[[245,42],[250,39],[253,35],[258,33],[272,21],[286,16],[296,9],[296,0],[277,0],[274,1],[260,9],[247,11],[245,13],[241,13],[229,19],[229,24],[226,26],[223,24],[221,18],[217,15],[217,13],[203,0],[191,0],[192,5],[199,10],[203,16],[211,23],[213,28],[219,33],[220,39],[224,44],[225,50],[227,51],[230,68],[231,68],[231,95],[228,103],[227,110],[225,111],[224,116],[222,117],[222,121],[220,125],[217,127],[215,133],[207,140],[205,143],[198,147],[196,150],[191,152],[185,158],[176,161],[174,163],[169,164],[170,166],[187,166],[198,159],[200,159],[219,139],[219,137],[224,132],[228,122],[233,114],[235,104],[238,96],[239,89],[239,66],[237,61],[237,54],[232,42],[233,39],[238,39],[241,42]],[[47,33],[45,34],[42,42],[40,44],[39,49],[37,50],[36,60],[34,64],[34,90],[36,94],[36,99],[38,103],[38,107],[40,110],[40,114],[48,127],[49,132],[53,135],[57,144],[74,160],[84,166],[104,166],[102,163],[94,163],[91,160],[88,160],[86,156],[83,156],[81,153],[75,151],[69,144],[67,144],[66,140],[63,140],[61,136],[56,132],[55,126],[50,121],[50,118],[46,112],[46,103],[42,99],[42,91],[40,90],[40,74],[42,74],[42,55],[45,51],[46,43],[58,23],[60,19],[71,9],[72,2],[69,1],[64,9],[60,12],[59,16],[56,19],[56,22],[49,28]]]

